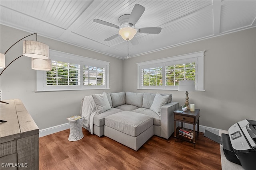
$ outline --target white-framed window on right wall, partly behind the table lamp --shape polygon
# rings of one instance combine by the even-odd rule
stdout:
[[[138,89],[178,90],[180,80],[194,80],[204,90],[204,51],[138,63]]]

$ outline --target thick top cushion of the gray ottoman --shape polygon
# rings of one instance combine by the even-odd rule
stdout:
[[[147,115],[131,111],[121,111],[107,116],[105,118],[105,125],[136,137],[153,125],[153,119]]]

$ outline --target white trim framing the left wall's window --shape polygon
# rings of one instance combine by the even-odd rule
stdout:
[[[44,91],[65,91],[65,90],[94,90],[109,89],[109,62],[83,57],[79,55],[64,53],[50,49],[50,59],[74,64],[80,64],[80,75],[83,77],[83,66],[96,66],[105,68],[104,86],[86,86],[83,85],[83,79],[80,86],[46,86],[46,71],[36,70],[36,92]]]

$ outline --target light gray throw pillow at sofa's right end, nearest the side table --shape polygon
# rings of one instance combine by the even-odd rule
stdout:
[[[161,116],[160,108],[164,106],[168,101],[169,96],[162,96],[159,93],[156,93],[154,101],[150,107],[150,110],[156,112],[159,116]]]

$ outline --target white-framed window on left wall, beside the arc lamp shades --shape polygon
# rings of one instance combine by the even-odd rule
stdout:
[[[109,63],[50,50],[51,71],[37,70],[37,90],[108,88]]]

